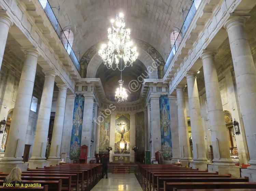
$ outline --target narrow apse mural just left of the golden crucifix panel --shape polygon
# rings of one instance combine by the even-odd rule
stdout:
[[[109,146],[109,137],[110,137],[110,115],[107,115],[106,118],[101,115],[101,120],[104,119],[100,123],[100,145],[99,152],[102,154],[106,151],[106,147]]]

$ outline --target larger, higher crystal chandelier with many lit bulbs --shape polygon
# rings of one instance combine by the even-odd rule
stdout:
[[[124,29],[124,14],[120,13],[119,16],[116,14],[116,19],[112,19],[111,22],[113,31],[111,28],[108,29],[109,43],[101,46],[99,55],[108,69],[115,70],[118,68],[122,71],[125,67],[132,66],[132,63],[138,58],[138,52],[136,47],[130,48],[132,46],[132,41],[130,41],[131,32],[130,29]],[[125,65],[123,69],[122,67],[119,69],[119,59],[122,58]]]

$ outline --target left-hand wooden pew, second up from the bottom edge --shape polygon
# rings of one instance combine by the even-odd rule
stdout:
[[[0,186],[3,186],[3,181],[0,180]],[[61,191],[62,180],[23,180],[25,184],[41,184],[41,186],[48,185],[48,191]],[[65,189],[64,189],[65,190]]]

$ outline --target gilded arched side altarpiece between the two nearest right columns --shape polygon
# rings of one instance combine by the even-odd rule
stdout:
[[[228,141],[229,141],[229,148],[230,148],[230,156],[233,160],[238,160],[238,151],[237,151],[237,141],[233,126],[233,119],[231,113],[229,111],[224,111],[224,118],[227,127],[228,133]]]

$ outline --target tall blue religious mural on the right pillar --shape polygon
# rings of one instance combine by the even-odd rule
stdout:
[[[172,138],[170,121],[170,103],[167,96],[159,98],[160,104],[160,124],[161,124],[161,144],[163,150],[163,159],[172,159]]]

